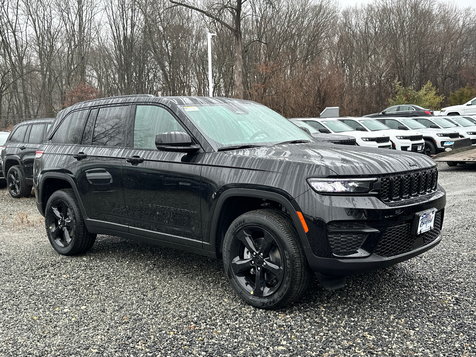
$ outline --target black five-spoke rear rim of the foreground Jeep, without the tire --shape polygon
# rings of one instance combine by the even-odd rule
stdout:
[[[51,238],[60,247],[68,247],[76,223],[76,218],[68,204],[60,198],[51,202],[46,219]]]

